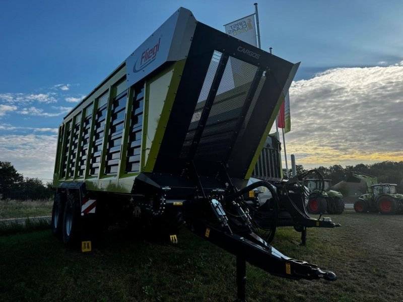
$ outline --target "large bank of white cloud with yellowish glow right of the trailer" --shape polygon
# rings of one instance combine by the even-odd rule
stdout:
[[[290,100],[298,164],[403,160],[403,65],[330,69],[294,82]]]

